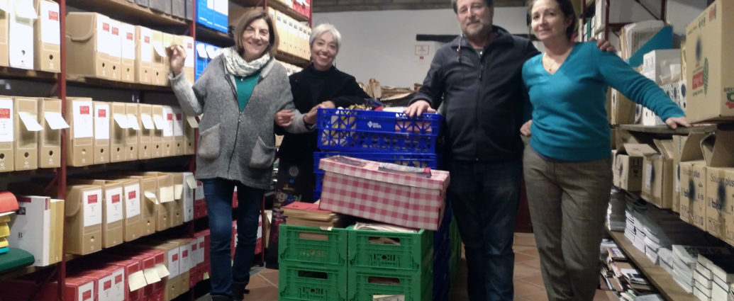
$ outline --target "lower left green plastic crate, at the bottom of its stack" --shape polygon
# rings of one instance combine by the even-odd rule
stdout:
[[[346,300],[346,267],[280,261],[279,270],[279,301]]]

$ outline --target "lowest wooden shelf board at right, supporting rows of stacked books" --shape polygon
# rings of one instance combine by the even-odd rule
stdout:
[[[645,256],[644,253],[637,250],[637,248],[632,245],[632,242],[627,240],[624,232],[608,231],[608,233],[611,235],[612,239],[614,239],[614,242],[617,242],[619,248],[625,252],[627,258],[630,259],[637,269],[645,275],[647,280],[649,280],[650,283],[660,291],[660,294],[663,295],[665,300],[699,301],[693,294],[688,294],[686,291],[683,291],[683,288],[678,286],[675,280],[673,280],[672,275],[663,270],[662,267],[653,264],[650,259],[647,259],[647,256]]]

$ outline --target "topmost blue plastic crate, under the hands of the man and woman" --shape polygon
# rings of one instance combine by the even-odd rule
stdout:
[[[319,109],[319,148],[352,152],[435,153],[440,114],[410,118],[385,111]]]

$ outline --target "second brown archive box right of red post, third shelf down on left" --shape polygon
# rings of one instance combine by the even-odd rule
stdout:
[[[102,188],[102,248],[123,243],[125,217],[123,185],[101,179],[69,179],[70,185],[94,185]]]

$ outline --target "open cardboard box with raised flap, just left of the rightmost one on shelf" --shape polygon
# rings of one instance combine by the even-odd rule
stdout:
[[[680,153],[680,219],[706,229],[706,163],[700,141],[705,133],[691,133]]]

